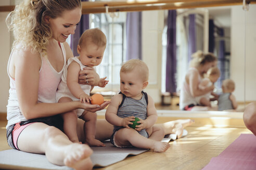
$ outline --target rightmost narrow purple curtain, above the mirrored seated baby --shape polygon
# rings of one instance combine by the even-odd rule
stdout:
[[[218,32],[220,37],[224,37],[224,29],[219,28]],[[225,41],[224,40],[220,40],[219,42],[218,58],[219,58],[219,68],[221,70],[221,77],[219,78],[217,87],[221,88],[222,80],[225,79]]]

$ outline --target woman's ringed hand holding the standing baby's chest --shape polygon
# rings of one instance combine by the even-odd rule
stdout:
[[[81,70],[78,79],[79,84],[88,84],[91,86],[97,86],[100,80],[99,75],[93,67],[85,67]]]

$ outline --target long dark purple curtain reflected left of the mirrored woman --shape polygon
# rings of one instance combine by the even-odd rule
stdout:
[[[176,10],[168,11],[165,90],[176,92]]]

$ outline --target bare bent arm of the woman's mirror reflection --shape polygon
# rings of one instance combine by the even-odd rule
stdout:
[[[191,70],[190,73],[186,75],[186,81],[188,81],[189,90],[191,92],[191,95],[193,95],[194,97],[206,94],[214,89],[214,85],[207,87],[203,90],[199,89],[198,77],[199,74],[195,70]]]

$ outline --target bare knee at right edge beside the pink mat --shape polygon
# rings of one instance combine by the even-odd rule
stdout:
[[[243,119],[246,127],[256,136],[256,102],[246,106]]]

